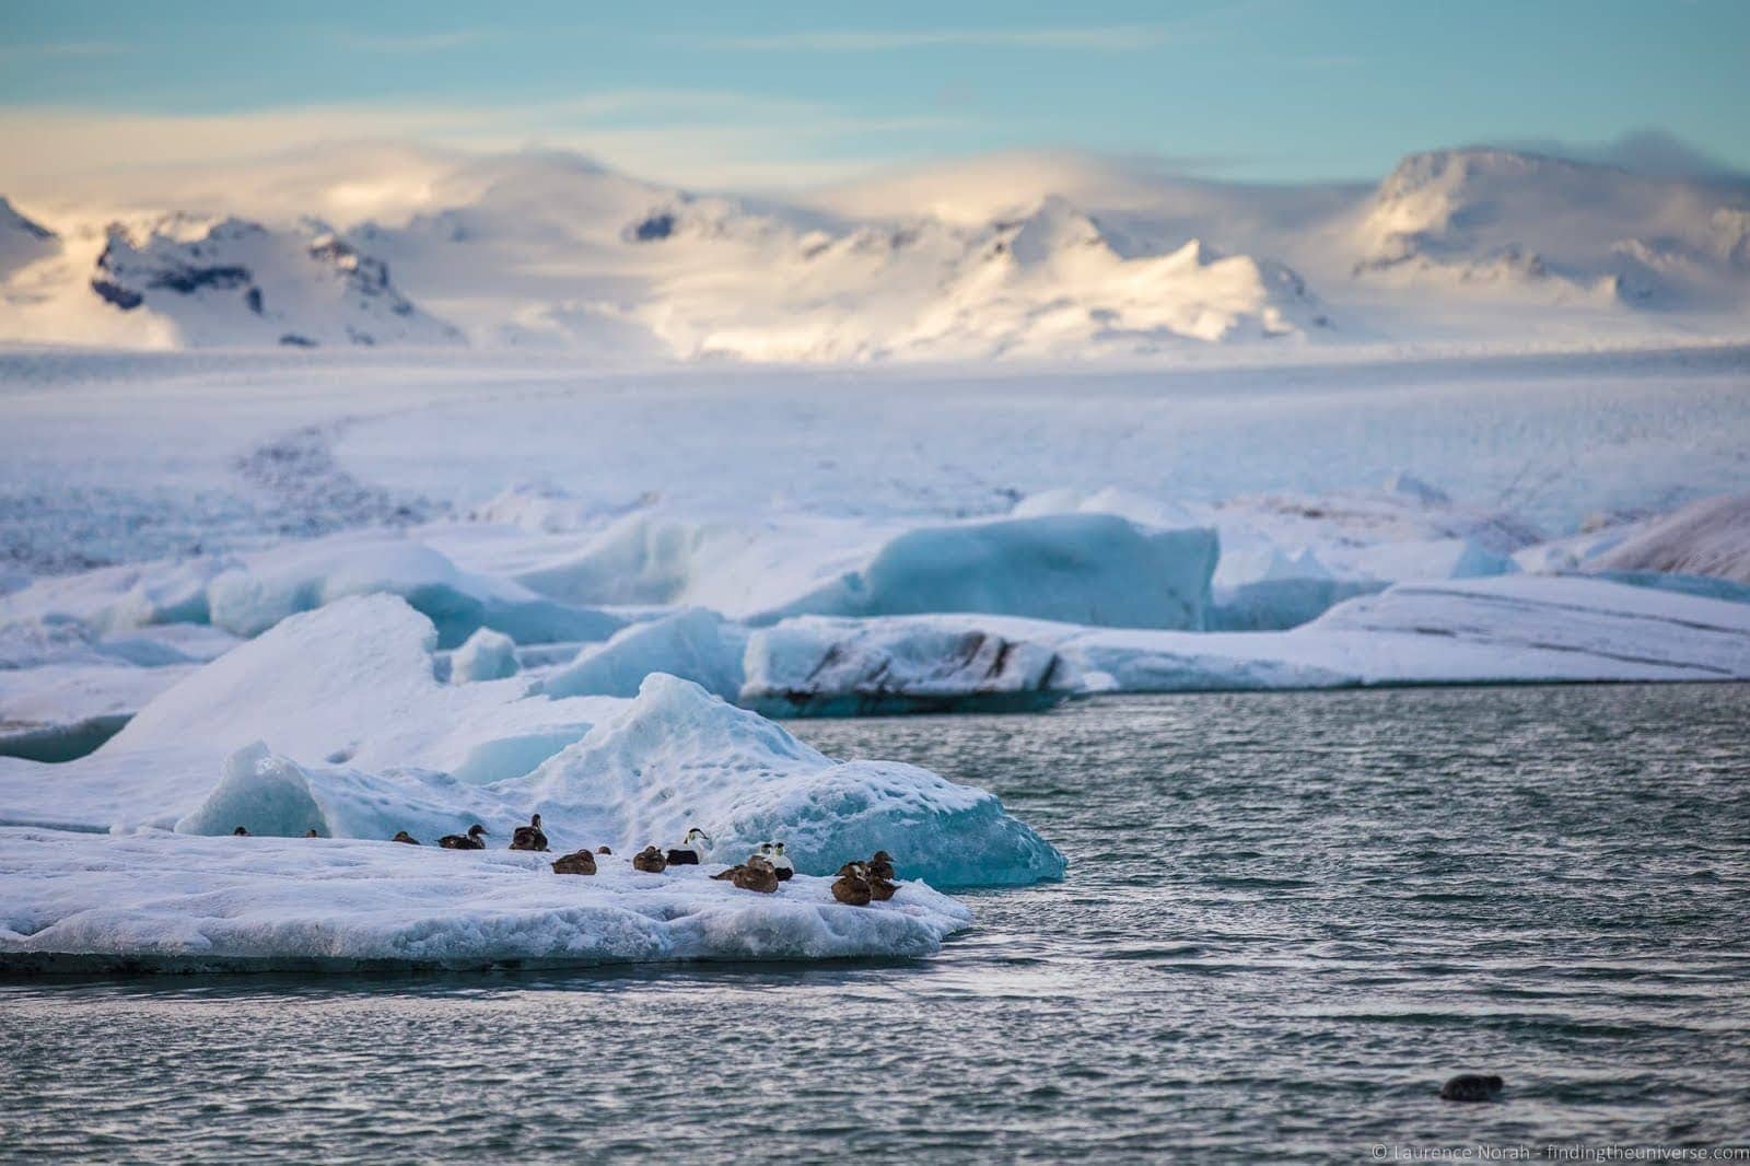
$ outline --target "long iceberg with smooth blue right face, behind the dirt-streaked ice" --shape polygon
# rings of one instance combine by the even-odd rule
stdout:
[[[634,513],[514,578],[570,604],[693,604],[744,623],[793,615],[978,611],[1202,627],[1218,543],[1069,513],[933,525],[684,522]]]

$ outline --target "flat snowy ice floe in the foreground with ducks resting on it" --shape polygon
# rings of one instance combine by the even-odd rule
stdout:
[[[614,854],[558,875],[551,858],[0,828],[0,972],[915,958],[971,923],[922,882],[847,907],[822,877],[763,895],[712,881],[716,867],[640,874]]]

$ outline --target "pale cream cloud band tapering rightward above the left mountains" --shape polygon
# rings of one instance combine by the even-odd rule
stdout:
[[[336,219],[418,208],[460,159],[576,151],[688,187],[845,180],[915,156],[950,116],[859,116],[726,91],[628,89],[528,105],[270,109],[222,116],[0,107],[0,194],[108,210],[191,205]]]

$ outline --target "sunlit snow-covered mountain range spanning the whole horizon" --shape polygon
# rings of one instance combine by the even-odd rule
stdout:
[[[5,205],[0,340],[842,362],[1750,324],[1750,180],[1498,149],[1416,154],[1376,189],[1024,163],[777,203],[522,152],[340,231],[164,214],[51,233]]]

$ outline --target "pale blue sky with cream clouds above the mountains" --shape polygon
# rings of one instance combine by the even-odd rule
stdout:
[[[1750,172],[1740,0],[0,5],[0,191],[345,142],[784,189],[1015,149],[1377,180],[1656,130]]]

